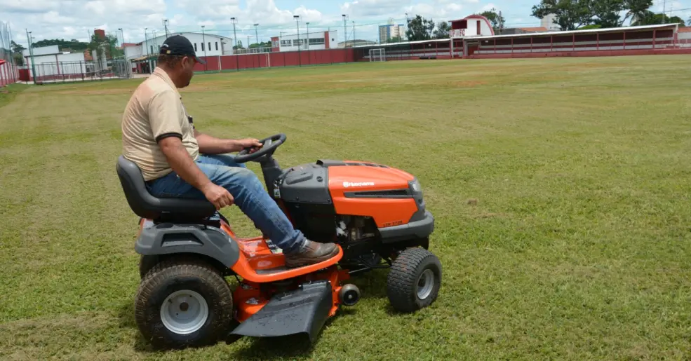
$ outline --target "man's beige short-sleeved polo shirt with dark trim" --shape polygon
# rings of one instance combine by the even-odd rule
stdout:
[[[156,67],[130,97],[122,116],[123,156],[139,166],[147,181],[173,171],[158,144],[165,137],[182,139],[196,161],[199,144],[182,96],[166,71]]]

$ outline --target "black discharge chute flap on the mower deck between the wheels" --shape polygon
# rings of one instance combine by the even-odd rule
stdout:
[[[276,294],[231,334],[255,337],[307,334],[309,341],[314,342],[332,306],[330,282],[303,283],[297,290]]]

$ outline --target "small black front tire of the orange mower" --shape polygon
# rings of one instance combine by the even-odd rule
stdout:
[[[427,271],[429,270],[429,271]],[[427,272],[426,272],[427,271]],[[418,284],[421,276],[429,282],[431,290],[418,297]],[[431,273],[431,275],[428,275]],[[387,278],[387,296],[396,311],[412,313],[431,305],[441,287],[441,262],[424,248],[408,248],[398,254],[391,264]],[[423,287],[424,288],[424,287]]]

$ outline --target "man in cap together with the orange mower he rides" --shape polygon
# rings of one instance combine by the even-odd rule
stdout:
[[[434,302],[441,264],[427,251],[434,218],[417,179],[354,161],[281,169],[273,155],[286,135],[260,141],[198,132],[177,92],[196,62],[185,37],[168,38],[123,114],[116,170],[141,217],[135,318],[147,341],[157,348],[236,336],[314,341],[340,306],[360,298],[345,281],[373,268],[391,268],[387,294],[398,311]],[[260,163],[266,190],[248,161]],[[262,237],[236,236],[219,212],[232,204]],[[235,290],[229,276],[239,282]]]

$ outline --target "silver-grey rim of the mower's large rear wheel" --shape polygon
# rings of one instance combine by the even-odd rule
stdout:
[[[176,334],[191,334],[201,329],[209,316],[209,307],[201,294],[180,290],[166,297],[161,305],[161,322]]]

